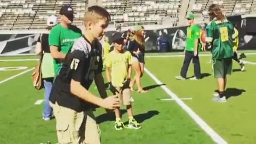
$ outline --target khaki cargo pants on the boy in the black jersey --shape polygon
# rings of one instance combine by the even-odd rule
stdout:
[[[56,118],[59,144],[100,144],[100,129],[91,110],[75,110],[50,103]]]

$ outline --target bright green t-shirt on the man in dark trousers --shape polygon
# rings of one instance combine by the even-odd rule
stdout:
[[[194,51],[196,39],[198,39],[198,51],[201,50],[202,45],[200,43],[200,32],[201,29],[198,25],[193,25],[187,28],[186,51]]]

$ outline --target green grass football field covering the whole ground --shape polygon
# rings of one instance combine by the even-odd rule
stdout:
[[[254,52],[254,51],[249,51]],[[168,53],[174,55],[182,53]],[[146,55],[157,55],[154,53]],[[158,54],[159,55],[159,54]],[[34,59],[26,57],[0,57],[0,68],[26,66],[25,70],[33,68],[36,61],[1,61],[3,59]],[[239,71],[239,65],[234,62],[233,75],[228,77],[227,103],[214,103],[212,94],[217,89],[213,77],[209,56],[201,57],[201,71],[204,78],[201,81],[177,81],[182,66],[183,57],[146,58],[146,68],[159,81],[166,85],[183,100],[195,113],[201,117],[215,132],[228,143],[256,143],[256,126],[253,115],[256,105],[255,80],[256,65],[246,65],[246,71]],[[256,62],[255,55],[248,55],[247,61]],[[0,143],[57,143],[55,120],[42,120],[41,105],[34,105],[38,99],[44,99],[44,91],[37,91],[31,83],[31,73],[20,75],[2,83],[6,78],[17,75],[25,70],[0,71]],[[193,76],[193,65],[190,65],[187,77]],[[98,108],[95,111],[101,129],[102,143],[111,144],[170,144],[170,143],[203,143],[214,141],[199,127],[195,121],[175,101],[161,101],[171,98],[161,86],[145,73],[142,84],[149,89],[146,94],[133,93],[134,117],[141,123],[141,130],[114,129],[114,115],[106,114]],[[94,85],[90,91],[98,95]],[[110,93],[109,93],[110,94]],[[123,108],[124,109],[124,108]],[[123,112],[123,122],[127,123],[127,113]]]

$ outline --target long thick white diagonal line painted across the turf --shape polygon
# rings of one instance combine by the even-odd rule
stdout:
[[[154,79],[154,81],[156,82],[156,84],[162,84],[161,81],[159,81],[148,69],[145,68],[146,73]],[[178,103],[178,105],[185,110],[188,115],[194,119],[194,121],[205,131],[205,133],[207,133],[208,135],[210,135],[210,137],[212,138],[213,141],[215,141],[218,144],[227,144],[227,142],[220,137],[220,135],[218,133],[216,133],[208,124],[206,124],[202,118],[200,118],[191,108],[189,108],[182,100],[180,100],[180,98],[174,94],[171,90],[169,90],[165,85],[161,86],[162,89],[171,96],[171,98],[173,100],[175,100],[175,102]]]

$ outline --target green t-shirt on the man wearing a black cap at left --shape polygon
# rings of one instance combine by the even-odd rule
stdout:
[[[70,26],[65,28],[62,25],[57,25],[52,28],[49,35],[49,45],[54,45],[59,47],[59,51],[62,53],[68,53],[73,46],[77,38],[82,36],[81,29],[76,26]],[[57,76],[62,67],[62,63],[58,60],[53,60],[54,64],[54,74]]]

